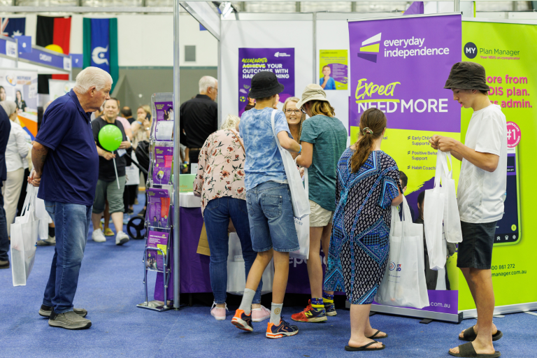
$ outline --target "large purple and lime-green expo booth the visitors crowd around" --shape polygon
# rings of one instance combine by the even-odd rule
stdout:
[[[248,104],[250,79],[259,69],[273,71],[285,85],[280,102],[289,96],[300,97],[306,85],[322,84],[327,78],[327,99],[348,129],[349,143],[357,139],[359,115],[364,110],[376,107],[387,114],[382,150],[408,176],[406,199],[414,213],[419,213],[417,195],[434,185],[436,152],[428,139],[441,134],[464,142],[472,113],[460,108],[452,100],[452,93],[443,89],[450,68],[460,61],[485,66],[490,99],[501,106],[508,120],[510,147],[506,209],[496,227],[492,262],[494,314],[537,310],[537,287],[532,284],[537,279],[532,264],[537,240],[529,227],[535,210],[531,164],[537,143],[533,136],[521,140],[522,131],[533,134],[537,130],[537,113],[530,96],[537,93],[537,21],[462,17],[459,1],[454,1],[452,13],[403,16],[229,15],[231,11],[226,10],[217,15],[204,1],[183,1],[174,7],[173,108],[180,104],[178,6],[219,41],[219,122],[228,113],[241,115]],[[174,131],[178,133],[180,118],[174,118]],[[176,148],[178,142],[176,136]],[[173,152],[173,160],[180,162],[178,150]],[[460,165],[455,163],[452,171],[457,182]],[[197,253],[203,218],[199,201],[189,193],[193,176],[180,175],[180,166],[174,166],[173,178],[173,201],[180,207],[173,212],[173,222],[179,224],[173,232],[173,275],[167,291],[178,308],[179,293],[211,289],[209,258]],[[522,224],[526,225],[524,235]],[[373,304],[371,310],[447,322],[476,317],[473,299],[456,263],[457,252],[438,271],[436,289],[428,291],[429,306],[418,310]],[[287,292],[310,293],[306,263],[292,259],[289,265]],[[162,280],[157,285],[162,285]]]

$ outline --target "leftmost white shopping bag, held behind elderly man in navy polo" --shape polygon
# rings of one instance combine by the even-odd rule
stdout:
[[[37,188],[28,184],[24,207],[11,224],[11,272],[13,286],[24,286],[36,257],[39,219],[36,217]]]

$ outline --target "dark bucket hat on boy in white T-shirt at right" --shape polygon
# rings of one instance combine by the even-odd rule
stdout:
[[[475,62],[457,62],[452,66],[444,88],[448,90],[460,88],[461,90],[489,91],[485,67]]]

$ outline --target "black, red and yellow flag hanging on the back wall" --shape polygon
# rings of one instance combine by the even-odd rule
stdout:
[[[37,15],[36,45],[69,55],[71,16],[51,17]],[[38,75],[37,92],[48,94],[48,79],[69,80],[69,75]]]

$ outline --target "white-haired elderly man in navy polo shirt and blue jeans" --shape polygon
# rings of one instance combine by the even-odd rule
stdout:
[[[97,67],[76,76],[76,85],[48,106],[34,148],[28,181],[56,225],[56,248],[39,315],[52,327],[86,329],[87,310],[74,308],[78,273],[92,217],[99,156],[90,114],[110,99],[112,78]]]

